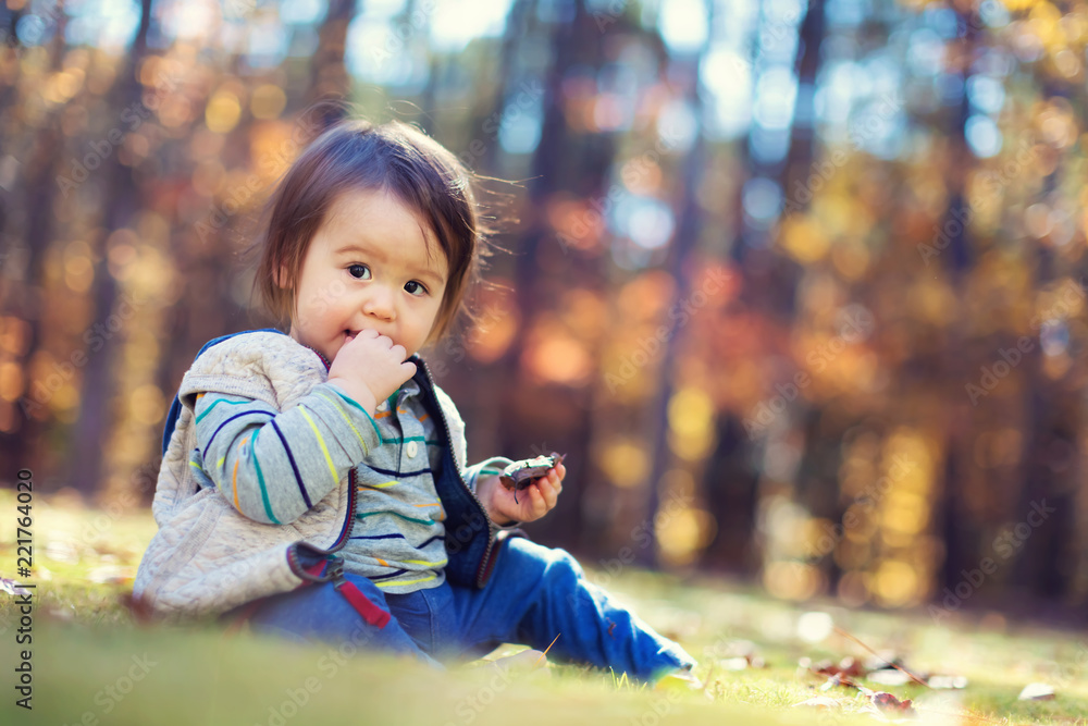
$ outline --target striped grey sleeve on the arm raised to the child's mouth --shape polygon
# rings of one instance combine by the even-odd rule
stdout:
[[[294,521],[381,445],[373,418],[321,383],[289,410],[207,392],[196,402],[200,469],[246,517]]]

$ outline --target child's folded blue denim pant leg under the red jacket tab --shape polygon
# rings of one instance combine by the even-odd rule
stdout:
[[[367,598],[390,612],[384,593],[369,579],[345,573]],[[301,642],[327,642],[342,650],[350,643],[358,650],[391,651],[411,655],[437,668],[442,666],[420,649],[394,616],[379,628],[367,623],[332,582],[307,585],[265,598],[249,616],[250,628]]]

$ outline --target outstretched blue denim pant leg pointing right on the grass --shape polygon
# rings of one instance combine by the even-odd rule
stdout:
[[[479,655],[503,642],[544,650],[548,657],[610,667],[654,680],[695,660],[604,590],[585,580],[566,551],[510,538],[483,589],[449,586],[425,591],[438,606],[434,654],[458,650]]]

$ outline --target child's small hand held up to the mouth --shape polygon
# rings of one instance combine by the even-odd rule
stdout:
[[[387,335],[363,330],[349,339],[329,367],[329,382],[344,389],[371,414],[405,381],[416,374],[416,364],[406,361],[408,352],[394,345]]]

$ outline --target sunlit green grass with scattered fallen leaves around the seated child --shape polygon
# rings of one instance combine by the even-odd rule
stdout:
[[[0,517],[0,576],[11,578],[10,490],[0,490],[0,512],[11,513]],[[938,627],[925,612],[799,606],[714,578],[629,568],[609,578],[609,591],[700,660],[705,691],[652,690],[572,665],[503,677],[477,662],[436,673],[394,656],[345,656],[245,631],[225,636],[208,625],[134,625],[121,598],[154,533],[150,514],[113,516],[71,497],[36,495],[33,516],[33,642],[16,644],[17,605],[0,600],[0,724],[871,724],[864,696],[845,688],[821,692],[820,679],[798,666],[803,656],[866,656],[839,635],[817,644],[798,638],[799,617],[820,610],[870,647],[902,655],[915,672],[968,678],[955,692],[866,684],[915,699],[919,721],[1088,726],[1088,638],[1009,625],[993,614],[980,620],[957,614]],[[603,579],[586,569],[591,580]],[[738,639],[752,641],[767,667],[727,670],[724,659]],[[14,668],[24,648],[32,651],[30,712],[14,705]],[[516,650],[504,647],[490,657]],[[1018,701],[1031,681],[1054,686],[1056,699]],[[794,705],[814,696],[840,706]]]

